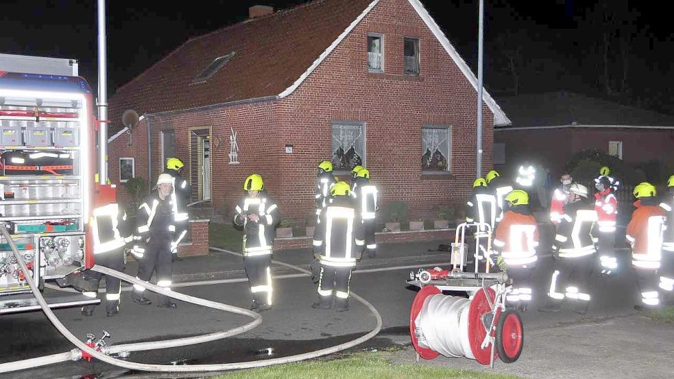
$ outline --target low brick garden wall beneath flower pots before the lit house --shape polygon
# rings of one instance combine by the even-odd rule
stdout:
[[[455,229],[409,230],[403,232],[375,233],[377,243],[413,242],[413,241],[454,241]],[[311,237],[291,237],[274,239],[274,249],[304,249],[311,247]]]

